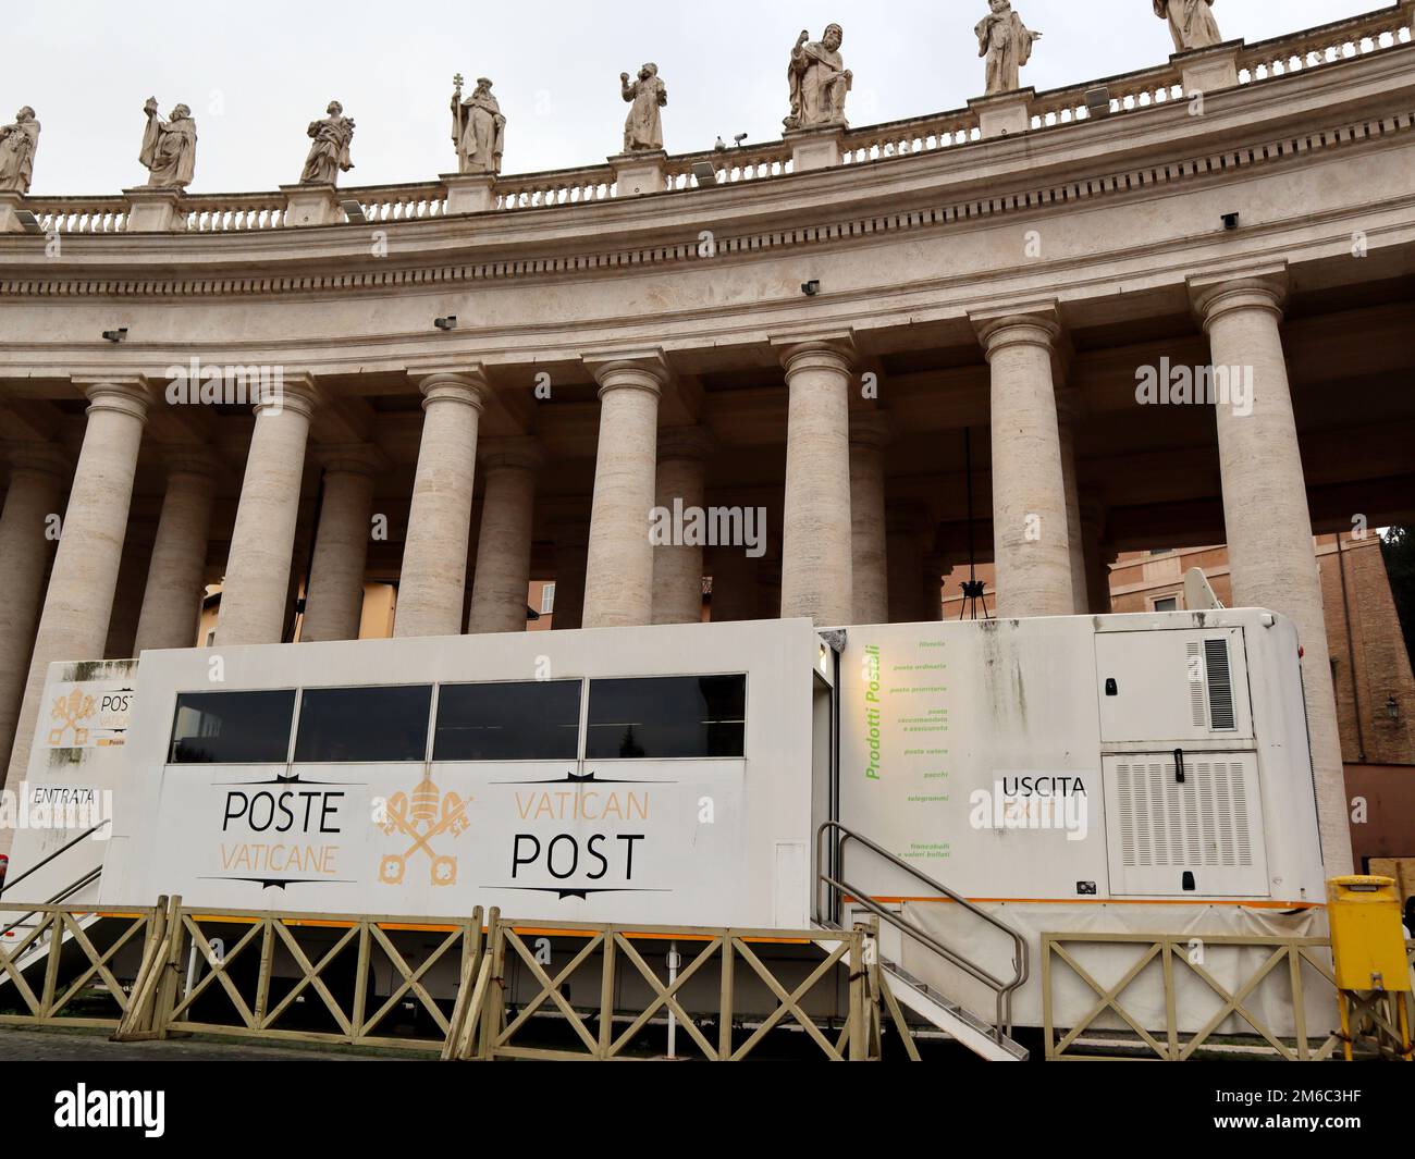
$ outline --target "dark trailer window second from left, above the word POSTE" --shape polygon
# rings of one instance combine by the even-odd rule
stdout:
[[[300,699],[297,761],[376,761],[427,757],[430,684],[307,688]]]

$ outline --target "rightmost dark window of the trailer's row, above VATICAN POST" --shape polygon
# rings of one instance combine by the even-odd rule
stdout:
[[[584,756],[740,757],[746,715],[746,676],[590,681]]]

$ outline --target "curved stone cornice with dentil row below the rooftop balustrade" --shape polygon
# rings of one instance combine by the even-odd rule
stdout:
[[[376,296],[478,283],[613,277],[751,260],[763,252],[870,242],[1007,215],[1044,215],[1232,180],[1261,167],[1298,164],[1332,149],[1402,137],[1415,125],[1415,82],[1401,75],[1394,92],[1377,98],[1382,98],[1380,83],[1391,81],[1397,67],[1401,74],[1409,72],[1409,57],[1405,48],[1391,50],[1312,74],[1244,85],[1210,96],[1214,109],[1204,117],[1191,117],[1183,102],[1173,102],[1015,139],[662,197],[368,226],[67,235],[64,246],[72,256],[59,266],[62,277],[45,276],[41,266],[7,273],[6,266],[16,265],[11,255],[38,241],[7,235],[0,239],[0,297]],[[1348,71],[1337,76],[1343,69]],[[1290,85],[1305,76],[1310,79],[1300,91],[1282,88],[1282,82]],[[1356,83],[1360,78],[1375,85],[1377,92],[1364,92]],[[1295,110],[1313,95],[1333,93],[1341,99]],[[1370,106],[1373,99],[1384,108],[1368,108],[1351,120],[1317,119],[1319,112]],[[1265,112],[1259,116],[1259,110]],[[1292,125],[1299,115],[1306,127]],[[1203,126],[1193,125],[1196,120]],[[1279,127],[1281,134],[1275,134]],[[1169,150],[1172,157],[1165,156]],[[403,265],[359,256],[362,265],[350,267],[374,228],[396,239]],[[712,258],[699,249],[705,228],[715,233]],[[601,236],[607,239],[603,248],[583,248],[586,238]],[[543,252],[535,253],[536,248]],[[191,273],[143,276],[144,266],[158,260],[178,269],[185,262]],[[122,269],[109,272],[119,263]],[[291,265],[299,269],[289,269]],[[235,273],[236,267],[253,272]]]

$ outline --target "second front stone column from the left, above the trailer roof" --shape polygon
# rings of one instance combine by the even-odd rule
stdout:
[[[313,378],[297,375],[255,406],[216,647],[279,644],[284,637],[304,451],[317,402]]]

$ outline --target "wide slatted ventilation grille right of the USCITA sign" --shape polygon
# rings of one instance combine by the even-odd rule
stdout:
[[[1116,766],[1121,860],[1126,867],[1249,867],[1247,768],[1241,760],[1184,754]]]

